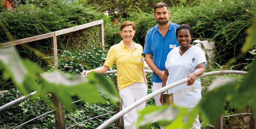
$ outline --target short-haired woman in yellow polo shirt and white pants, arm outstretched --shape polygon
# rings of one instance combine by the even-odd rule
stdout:
[[[147,80],[144,67],[143,49],[140,44],[132,41],[135,34],[133,22],[125,21],[120,25],[120,35],[123,40],[113,45],[106,57],[103,66],[81,74],[87,75],[91,71],[104,73],[116,62],[117,87],[120,98],[123,100],[123,109],[147,95]],[[143,103],[124,115],[125,129],[136,129],[137,110],[145,108]]]

